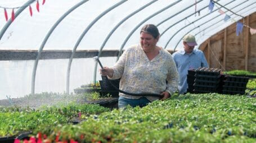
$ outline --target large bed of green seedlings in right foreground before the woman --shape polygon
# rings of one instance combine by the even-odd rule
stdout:
[[[174,95],[41,132],[51,140],[60,135],[60,141],[78,142],[255,142],[255,103],[241,95]]]

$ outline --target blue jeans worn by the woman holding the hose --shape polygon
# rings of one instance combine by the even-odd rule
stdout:
[[[150,103],[150,100],[142,97],[140,99],[128,99],[122,96],[119,96],[118,99],[118,108],[125,108],[127,105],[131,105],[131,107],[145,107],[147,104]]]

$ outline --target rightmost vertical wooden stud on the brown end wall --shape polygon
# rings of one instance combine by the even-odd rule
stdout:
[[[249,26],[249,17],[245,18],[245,25]],[[244,36],[244,52],[245,52],[245,70],[248,71],[248,50],[249,50],[249,27],[245,27],[245,36]]]

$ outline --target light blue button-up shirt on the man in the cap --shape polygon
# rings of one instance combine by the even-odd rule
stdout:
[[[201,50],[194,49],[192,53],[186,54],[185,50],[179,50],[173,53],[173,59],[179,72],[179,94],[187,91],[187,71],[199,67],[208,67],[204,53]]]

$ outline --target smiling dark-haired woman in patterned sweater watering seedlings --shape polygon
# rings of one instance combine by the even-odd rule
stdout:
[[[140,44],[125,50],[118,62],[100,72],[109,79],[120,79],[119,89],[128,93],[161,94],[169,98],[178,88],[179,76],[172,55],[158,47],[158,28],[147,24],[140,32]],[[118,107],[143,107],[159,99],[156,96],[133,96],[119,93]]]

